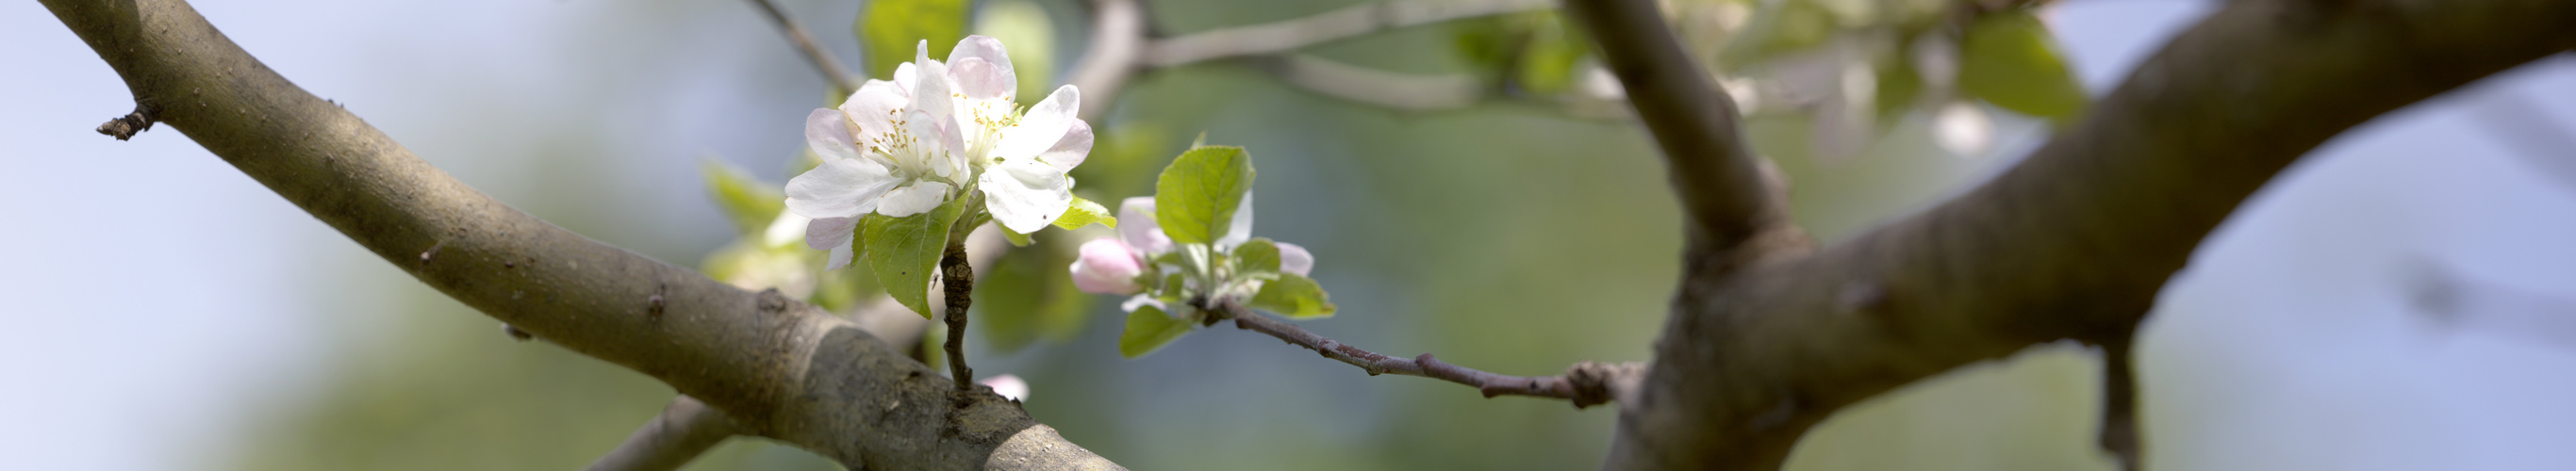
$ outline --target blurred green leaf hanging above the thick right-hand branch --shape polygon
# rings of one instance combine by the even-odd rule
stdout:
[[[1978,15],[1958,49],[1958,88],[1968,95],[2043,118],[2084,108],[2084,88],[2066,69],[2056,36],[2030,10]]]

